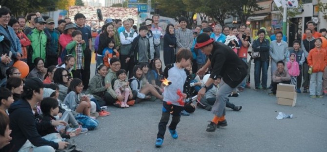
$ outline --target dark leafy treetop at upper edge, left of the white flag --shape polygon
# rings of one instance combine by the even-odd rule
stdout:
[[[242,23],[245,23],[248,17],[253,16],[255,11],[262,10],[257,4],[257,0],[230,0],[229,9],[234,10],[231,14],[239,17]]]

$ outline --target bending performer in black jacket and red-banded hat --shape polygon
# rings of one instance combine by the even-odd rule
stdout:
[[[215,40],[210,38],[207,34],[200,34],[198,36],[195,48],[201,49],[201,51],[209,57],[207,63],[203,68],[198,70],[197,74],[203,75],[205,69],[210,65],[212,67],[209,79],[198,92],[199,100],[204,97],[208,86],[211,85],[219,75],[222,76],[217,98],[212,107],[214,118],[206,128],[207,132],[214,132],[217,127],[227,125],[227,121],[225,120],[226,100],[228,95],[230,95],[245,78],[247,74],[247,65],[228,46],[221,42],[215,42]]]

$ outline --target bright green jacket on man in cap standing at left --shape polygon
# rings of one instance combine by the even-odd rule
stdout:
[[[47,42],[47,35],[44,31],[39,31],[37,29],[32,30],[27,37],[31,40],[31,51],[32,52],[32,63],[34,63],[34,59],[37,57],[41,57],[45,60],[46,56],[46,42]]]

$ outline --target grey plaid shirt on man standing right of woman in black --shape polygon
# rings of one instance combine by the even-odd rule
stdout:
[[[177,51],[180,48],[191,49],[193,44],[193,33],[190,29],[179,28],[175,30],[176,42],[177,42]]]

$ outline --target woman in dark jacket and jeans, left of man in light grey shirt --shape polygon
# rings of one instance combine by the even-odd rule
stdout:
[[[258,31],[259,38],[252,43],[254,52],[260,52],[260,57],[254,59],[254,85],[255,90],[265,88],[267,89],[267,70],[269,62],[269,40],[265,38],[266,31],[260,29]],[[260,81],[260,74],[261,81]],[[261,86],[260,86],[261,82]]]

